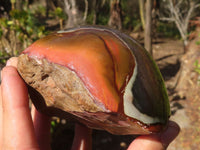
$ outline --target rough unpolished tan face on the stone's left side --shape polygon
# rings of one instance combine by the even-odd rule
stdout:
[[[22,54],[18,71],[25,82],[43,96],[47,107],[67,112],[105,111],[101,104],[95,103],[80,78],[67,67]]]

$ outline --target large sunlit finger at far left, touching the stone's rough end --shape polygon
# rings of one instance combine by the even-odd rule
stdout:
[[[3,149],[38,149],[26,85],[16,68],[2,70]]]

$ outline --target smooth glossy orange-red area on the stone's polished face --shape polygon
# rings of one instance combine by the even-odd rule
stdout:
[[[91,96],[111,112],[119,111],[124,88],[135,67],[131,51],[114,35],[98,30],[51,34],[24,53],[74,71]]]

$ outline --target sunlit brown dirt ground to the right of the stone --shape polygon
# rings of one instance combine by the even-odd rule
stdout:
[[[180,69],[180,58],[184,52],[181,41],[164,39],[153,45],[154,59],[163,74],[168,89],[172,116],[181,132],[170,144],[169,150],[197,150],[200,148],[200,99],[195,91],[188,91],[188,97],[180,97],[178,91],[171,90]]]

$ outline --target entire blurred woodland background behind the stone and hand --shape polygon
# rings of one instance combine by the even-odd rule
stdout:
[[[0,67],[35,40],[80,25],[121,30],[156,61],[181,133],[169,150],[200,145],[200,0],[0,0]],[[73,123],[52,121],[52,149],[70,149]],[[94,150],[124,150],[134,136],[93,132]]]

